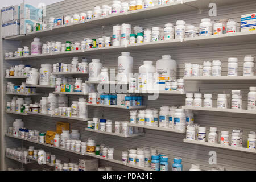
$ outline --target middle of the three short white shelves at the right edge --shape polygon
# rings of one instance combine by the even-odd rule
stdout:
[[[190,107],[190,106],[182,106],[182,109],[214,111],[214,112],[223,112],[223,113],[236,113],[236,114],[256,114],[256,110],[245,110],[245,109],[219,109],[219,108],[204,108],[204,107]]]

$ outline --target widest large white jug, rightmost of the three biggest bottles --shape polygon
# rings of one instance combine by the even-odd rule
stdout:
[[[158,74],[156,86],[159,86],[159,90],[164,90],[167,80],[177,79],[176,61],[172,60],[170,55],[163,55],[162,59],[156,61],[156,74]]]

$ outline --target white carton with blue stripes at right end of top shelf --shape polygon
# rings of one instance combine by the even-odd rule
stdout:
[[[256,13],[241,16],[241,32],[256,30]]]

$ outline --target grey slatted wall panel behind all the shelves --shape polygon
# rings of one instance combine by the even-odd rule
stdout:
[[[213,1],[214,2],[214,1]],[[87,10],[92,10],[93,6],[96,5],[111,5],[112,1],[63,1],[55,3],[53,5],[47,6],[47,17],[50,16],[60,16],[60,15],[72,15],[73,13],[82,13]],[[217,16],[213,17],[212,20],[219,20],[222,18],[232,18],[236,20],[241,19],[242,14],[255,12],[256,2],[253,1],[249,3],[240,3],[230,6],[217,7]],[[132,26],[140,25],[144,28],[151,27],[164,27],[165,23],[174,23],[176,20],[183,19],[187,23],[199,25],[201,18],[208,17],[208,10],[193,11],[188,13],[180,13],[168,16],[162,16],[158,18],[142,19],[135,22],[123,22],[130,23]],[[139,19],[139,17],[138,17]],[[113,22],[115,24],[115,22]],[[60,34],[56,36],[48,36],[42,38],[42,42],[48,40],[55,41],[81,41],[84,38],[99,38],[101,36],[111,36],[112,35],[112,25],[106,26],[104,29],[102,27],[94,28],[92,30],[72,32],[70,34]],[[31,40],[22,42],[22,46],[30,46]],[[208,44],[206,46],[197,46],[195,44],[188,45],[186,47],[174,47],[174,48],[163,48],[159,49],[156,47],[154,51],[133,51],[131,56],[134,57],[134,73],[138,72],[138,67],[143,64],[144,60],[151,60],[156,63],[156,60],[160,59],[162,55],[170,54],[172,59],[177,61],[177,77],[181,78],[184,75],[184,63],[203,63],[205,60],[221,60],[222,61],[222,75],[226,75],[227,61],[228,57],[238,57],[239,60],[239,75],[242,75],[242,65],[243,57],[245,55],[256,56],[255,53],[255,42],[244,42],[241,44]],[[16,49],[16,48],[15,48]],[[13,49],[14,51],[14,49]],[[117,69],[117,57],[121,55],[120,52],[116,53],[106,53],[105,55],[97,56],[86,56],[88,60],[91,59],[101,59],[101,63],[104,63],[104,67]],[[65,57],[63,59],[47,59],[47,60],[31,60],[23,61],[23,64],[31,64],[34,68],[40,68],[40,64],[43,63],[71,63],[72,57]],[[80,57],[81,60],[81,57]],[[4,62],[5,65],[13,62]],[[9,67],[7,65],[6,67]],[[247,102],[247,92],[249,91],[249,86],[256,86],[255,82],[218,82],[218,81],[187,81],[185,82],[186,88],[197,87],[201,93],[213,93],[213,105],[216,105],[216,99],[218,93],[230,93],[230,90],[241,89],[243,92],[243,102]],[[51,90],[38,89],[44,92],[45,96]],[[77,100],[79,97],[69,96],[69,103],[71,101]],[[7,98],[6,98],[7,99]],[[11,99],[11,98],[9,98]],[[39,99],[37,99],[39,101]],[[147,96],[144,96],[144,104],[147,107],[155,107],[160,109],[162,105],[169,106],[182,106],[184,105],[185,96],[163,96],[160,95],[158,100],[147,100]],[[113,121],[128,121],[129,111],[122,109],[108,109],[108,108],[98,108],[89,107],[89,116],[103,116],[106,119],[112,119]],[[16,116],[10,116],[5,114],[5,126],[11,126],[12,121],[14,121]],[[62,119],[52,119],[47,117],[23,117],[25,126],[30,129],[40,129],[42,131],[54,130],[57,121],[62,121]],[[104,143],[106,146],[115,148],[114,158],[121,159],[121,152],[127,151],[129,148],[137,148],[140,146],[150,146],[158,148],[160,153],[167,154],[170,158],[170,164],[172,164],[172,159],[176,156],[183,158],[184,169],[188,170],[192,163],[199,163],[202,169],[210,169],[213,166],[208,164],[208,152],[217,152],[217,164],[224,166],[228,170],[255,170],[256,169],[256,158],[253,154],[247,154],[245,152],[230,151],[218,148],[212,148],[207,146],[198,146],[194,144],[187,144],[183,142],[185,138],[184,134],[168,133],[163,131],[155,130],[144,130],[145,135],[141,137],[134,138],[120,138],[111,135],[102,135],[96,133],[90,133],[85,131],[86,122],[80,121],[69,121],[71,123],[71,128],[79,128],[81,139],[86,140],[87,138],[96,139],[97,144]],[[195,122],[199,123],[201,126],[205,127],[218,127],[218,131],[240,128],[244,131],[244,138],[247,139],[247,134],[250,131],[256,130],[255,117],[253,115],[240,115],[240,114],[224,114],[224,113],[214,113],[214,112],[195,112]],[[5,146],[10,146],[14,139],[5,139]],[[246,143],[246,141],[243,141]],[[26,146],[29,144],[26,143]],[[40,146],[40,148],[42,148]],[[53,153],[52,149],[51,152]],[[70,160],[76,160],[75,154],[65,154],[63,151],[55,151],[55,154],[63,156],[63,159],[67,158]],[[6,159],[7,161],[8,159]],[[7,163],[9,164],[9,163]],[[31,164],[33,168],[36,168],[35,164]],[[118,164],[109,163],[104,160],[100,161],[100,166],[113,166],[114,169],[127,169],[131,170],[133,168],[120,166]],[[31,169],[31,167],[27,167]],[[39,169],[39,168],[38,168]]]

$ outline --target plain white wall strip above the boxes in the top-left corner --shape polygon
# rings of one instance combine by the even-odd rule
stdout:
[[[26,3],[29,3],[30,5],[33,5],[35,7],[37,7],[39,5],[39,3],[45,3],[46,5],[52,4],[52,3],[56,3],[56,2],[60,2],[63,0],[26,0]],[[23,0],[8,0],[8,1],[0,1],[0,7],[5,7],[5,6],[10,6],[10,5],[17,5],[22,3]]]

